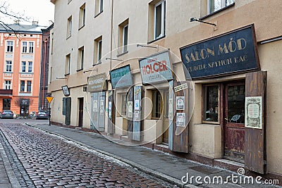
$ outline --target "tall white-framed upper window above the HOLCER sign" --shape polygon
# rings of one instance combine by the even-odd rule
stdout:
[[[166,1],[161,1],[154,6],[154,39],[164,37],[166,16]]]

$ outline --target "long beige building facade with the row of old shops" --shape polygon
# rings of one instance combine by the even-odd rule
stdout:
[[[51,121],[282,175],[280,1],[51,2]]]

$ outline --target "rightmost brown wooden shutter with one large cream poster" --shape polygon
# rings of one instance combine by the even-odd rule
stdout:
[[[245,168],[266,173],[266,71],[246,74]]]

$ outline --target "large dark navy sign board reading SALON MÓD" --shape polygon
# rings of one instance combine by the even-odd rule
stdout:
[[[180,54],[192,79],[259,70],[254,25],[184,46]]]

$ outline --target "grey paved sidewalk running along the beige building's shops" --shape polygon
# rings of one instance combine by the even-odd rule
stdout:
[[[28,125],[45,130],[51,134],[60,135],[82,146],[87,146],[90,149],[117,158],[138,170],[176,184],[178,187],[270,187],[263,184],[239,185],[233,184],[230,181],[228,181],[228,184],[204,184],[204,177],[208,176],[213,180],[214,176],[221,176],[223,177],[223,181],[225,181],[227,176],[231,176],[234,173],[221,168],[214,168],[201,163],[188,161],[184,158],[178,158],[161,151],[147,149],[142,146],[124,146],[122,144],[116,144],[115,142],[124,143],[125,141],[115,139],[115,142],[111,142],[101,134],[93,132],[85,132],[79,129],[59,127],[56,125],[49,126],[35,123],[29,123]],[[181,181],[181,178],[187,176],[187,173],[189,179],[194,176],[194,178],[192,178],[192,184],[183,184]],[[202,183],[196,183],[195,177],[197,176],[202,177]],[[186,178],[184,180],[186,180]],[[190,181],[188,183],[190,183]]]

